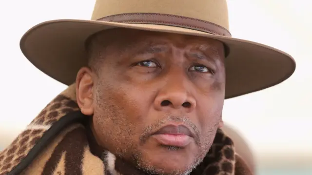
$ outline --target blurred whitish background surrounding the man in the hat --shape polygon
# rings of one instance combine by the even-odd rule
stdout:
[[[50,19],[90,19],[95,0],[0,1],[0,150],[66,88],[20,52],[20,37]],[[291,78],[227,99],[223,118],[250,145],[256,175],[312,175],[312,1],[228,0],[230,32],[283,50]],[[265,70],[264,70],[265,71]]]

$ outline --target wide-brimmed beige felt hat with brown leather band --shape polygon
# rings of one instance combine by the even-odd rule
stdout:
[[[118,27],[222,41],[229,49],[225,98],[276,85],[295,70],[290,55],[231,37],[226,0],[97,0],[91,20],[40,23],[24,34],[20,48],[39,70],[69,85],[75,81],[79,68],[87,64],[86,39],[101,30]]]

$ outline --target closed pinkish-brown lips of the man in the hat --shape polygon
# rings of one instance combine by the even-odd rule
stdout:
[[[185,147],[191,143],[193,134],[189,128],[184,125],[167,125],[156,131],[152,137],[160,145]]]

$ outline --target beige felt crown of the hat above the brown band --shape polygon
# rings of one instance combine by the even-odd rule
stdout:
[[[96,0],[92,20],[149,13],[181,16],[217,24],[229,30],[226,0]]]

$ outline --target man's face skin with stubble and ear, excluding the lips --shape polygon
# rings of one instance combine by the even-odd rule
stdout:
[[[90,66],[77,75],[77,101],[98,145],[124,162],[123,174],[183,175],[209,151],[222,126],[225,95],[221,42],[130,29],[98,33]],[[194,134],[190,144],[159,144],[168,124]]]

